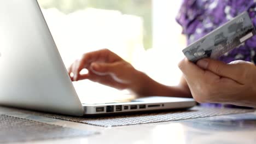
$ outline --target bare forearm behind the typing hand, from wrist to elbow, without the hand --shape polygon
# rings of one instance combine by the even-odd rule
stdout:
[[[168,96],[168,97],[191,97],[191,93],[184,79],[178,86],[166,86],[154,81],[148,75],[138,71],[137,84],[131,87],[131,91],[138,97]]]

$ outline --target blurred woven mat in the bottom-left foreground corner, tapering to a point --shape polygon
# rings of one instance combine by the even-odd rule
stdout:
[[[0,143],[86,136],[89,131],[0,115]]]

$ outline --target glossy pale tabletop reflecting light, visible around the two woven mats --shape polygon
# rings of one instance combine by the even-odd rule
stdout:
[[[255,143],[256,112],[182,121],[129,125],[122,127],[97,127],[94,125],[63,121],[16,112],[0,110],[0,114],[62,125],[69,128],[97,131],[100,134],[33,141],[32,143]],[[31,142],[29,142],[31,143]]]

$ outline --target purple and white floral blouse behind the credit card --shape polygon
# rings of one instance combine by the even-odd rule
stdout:
[[[247,10],[253,25],[256,26],[256,1],[254,0],[184,0],[176,17],[187,36],[188,44],[213,31],[232,17]],[[219,58],[229,63],[237,59],[256,63],[256,36],[247,40],[244,45],[236,47]],[[222,106],[220,104],[203,104]],[[228,105],[228,107],[235,107]]]

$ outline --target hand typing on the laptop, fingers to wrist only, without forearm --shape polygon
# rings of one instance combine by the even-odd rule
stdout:
[[[82,69],[87,69],[88,74],[80,74]],[[85,53],[68,68],[68,74],[72,81],[89,79],[118,89],[132,89],[139,87],[141,73],[112,51],[104,49]]]

